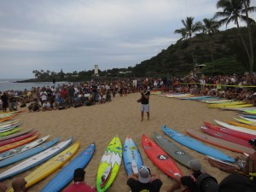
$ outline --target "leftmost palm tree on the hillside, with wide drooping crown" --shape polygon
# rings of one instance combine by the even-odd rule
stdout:
[[[194,17],[187,17],[186,20],[182,20],[183,28],[177,29],[174,31],[174,33],[180,33],[182,35],[182,39],[192,38],[193,34],[195,32],[201,31],[202,25],[200,21],[197,21],[194,23]],[[195,64],[196,64],[196,58],[194,55],[194,47],[193,44],[191,44],[192,47],[192,58],[193,58],[193,72],[195,74]]]

